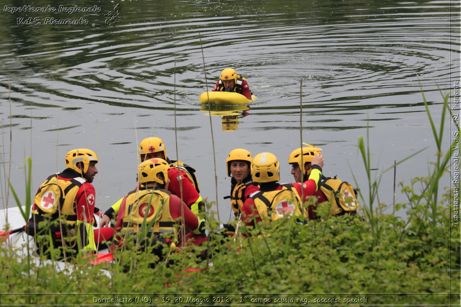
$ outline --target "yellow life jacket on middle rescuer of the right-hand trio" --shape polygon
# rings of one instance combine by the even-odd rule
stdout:
[[[298,220],[305,224],[307,210],[303,208],[296,188],[291,184],[281,186],[281,190],[258,191],[251,195],[259,215],[261,217],[270,216],[271,220],[295,215]]]

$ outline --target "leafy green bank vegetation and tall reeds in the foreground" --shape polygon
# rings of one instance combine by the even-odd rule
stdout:
[[[437,145],[434,162],[428,165],[427,174],[399,183],[407,200],[396,203],[395,210],[378,202],[379,181],[370,172],[371,150],[360,138],[369,193],[368,197],[360,195],[361,210],[352,218],[330,216],[329,205],[323,204],[317,209],[320,220],[306,226],[294,219],[281,220],[270,228],[241,225],[240,234],[252,234],[244,238],[223,235],[220,222],[208,212],[210,241],[189,252],[165,245],[166,259],[154,268],[151,254],[125,250],[114,252],[115,261],[109,263],[92,266],[88,259],[78,259],[69,266],[72,272],[59,271],[53,264],[30,265],[30,258],[38,256],[18,255],[3,247],[2,304],[103,305],[111,302],[100,300],[116,294],[136,293],[159,300],[150,304],[171,304],[168,298],[182,298],[177,305],[200,304],[186,304],[193,298],[222,305],[262,305],[263,300],[277,304],[281,299],[295,305],[459,306],[461,234],[452,211],[459,184],[443,187],[439,181],[456,150],[459,154],[459,136],[448,150],[442,148],[442,138],[448,134],[443,123],[452,115],[448,97],[443,96],[438,128],[426,104]],[[27,202],[30,205],[30,198]],[[397,216],[398,210],[404,210],[406,217]],[[205,260],[199,257],[203,251],[208,255]],[[136,299],[135,295],[118,295],[118,300],[122,296]]]

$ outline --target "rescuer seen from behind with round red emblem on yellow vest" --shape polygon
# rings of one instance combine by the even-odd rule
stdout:
[[[142,250],[149,246],[154,255],[159,257],[159,261],[163,259],[162,243],[178,243],[177,221],[182,216],[184,225],[191,230],[186,237],[187,241],[207,241],[205,220],[198,219],[179,197],[166,190],[169,169],[170,165],[161,158],[146,159],[138,165],[139,186],[123,198],[115,226],[117,239],[121,240],[119,244],[125,242],[126,235],[146,231],[146,238],[139,244]],[[142,226],[143,223],[145,226]],[[172,239],[162,236],[167,232],[173,234]]]

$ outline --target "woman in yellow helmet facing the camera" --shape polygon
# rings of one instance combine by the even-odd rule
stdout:
[[[227,175],[231,177],[231,208],[237,217],[250,194],[259,190],[251,177],[251,153],[246,149],[232,150],[226,159]]]

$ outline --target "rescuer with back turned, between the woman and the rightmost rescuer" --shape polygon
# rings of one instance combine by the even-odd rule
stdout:
[[[278,220],[284,216],[295,216],[301,223],[306,223],[307,211],[303,203],[319,188],[324,164],[321,155],[312,161],[311,178],[303,184],[279,184],[280,164],[277,157],[270,152],[261,152],[253,157],[251,175],[254,182],[259,183],[259,191],[247,198],[242,207],[242,221],[247,226],[254,226],[265,217]],[[303,197],[301,201],[301,196]]]

